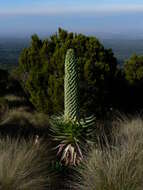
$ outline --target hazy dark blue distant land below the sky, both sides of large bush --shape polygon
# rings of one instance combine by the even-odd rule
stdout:
[[[99,39],[105,48],[111,48],[120,64],[133,53],[143,55],[143,39]],[[28,47],[26,38],[0,38],[0,68],[11,69],[18,64],[23,48]]]

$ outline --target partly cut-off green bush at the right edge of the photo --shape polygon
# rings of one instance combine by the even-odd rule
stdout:
[[[133,54],[123,67],[128,109],[134,112],[143,108],[143,56]]]

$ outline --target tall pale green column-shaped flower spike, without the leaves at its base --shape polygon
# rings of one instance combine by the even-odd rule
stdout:
[[[65,121],[79,120],[78,66],[73,49],[67,51],[65,59],[64,106]]]

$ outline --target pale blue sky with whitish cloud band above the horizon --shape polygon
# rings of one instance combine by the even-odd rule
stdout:
[[[0,36],[46,36],[58,27],[143,37],[143,0],[0,0]]]

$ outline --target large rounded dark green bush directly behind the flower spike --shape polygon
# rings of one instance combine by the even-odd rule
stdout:
[[[38,111],[50,114],[63,111],[64,60],[69,48],[78,57],[82,111],[98,112],[105,108],[104,99],[117,63],[112,51],[95,37],[63,29],[43,41],[33,35],[31,45],[19,59],[19,79]]]

